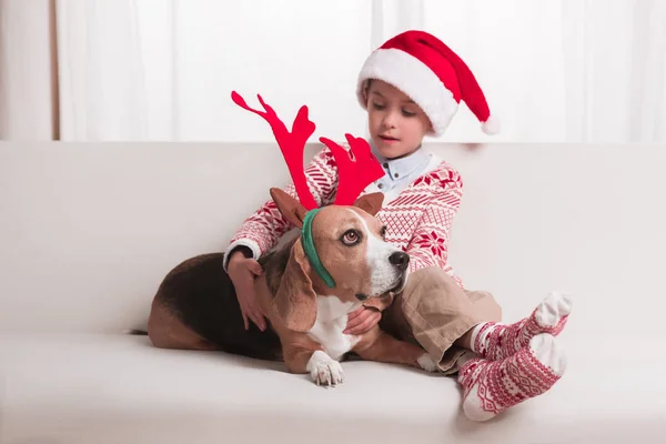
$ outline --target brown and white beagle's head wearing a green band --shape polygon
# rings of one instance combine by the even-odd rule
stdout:
[[[404,289],[410,256],[385,241],[385,226],[375,218],[382,193],[363,195],[353,205],[325,206],[310,221],[291,195],[279,189],[271,195],[281,213],[304,231],[291,246],[274,299],[275,311],[290,330],[312,327],[317,294],[357,302]]]

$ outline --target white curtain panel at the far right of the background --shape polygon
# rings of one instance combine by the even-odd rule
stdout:
[[[565,0],[567,140],[666,142],[666,1]]]

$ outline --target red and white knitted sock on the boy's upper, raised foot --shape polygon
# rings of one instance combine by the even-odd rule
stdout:
[[[485,322],[476,325],[472,331],[472,351],[491,361],[508,357],[527,346],[529,340],[537,334],[559,334],[571,311],[572,297],[552,292],[529,317],[515,324]]]

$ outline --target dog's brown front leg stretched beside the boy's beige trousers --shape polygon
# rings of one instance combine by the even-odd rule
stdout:
[[[379,327],[366,333],[354,352],[366,361],[408,365],[426,372],[437,371],[437,364],[426,351],[412,343],[396,340]]]

